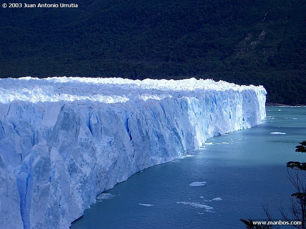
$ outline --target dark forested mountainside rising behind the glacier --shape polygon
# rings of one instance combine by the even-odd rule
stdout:
[[[74,3],[0,9],[1,78],[212,78],[306,104],[304,0]]]

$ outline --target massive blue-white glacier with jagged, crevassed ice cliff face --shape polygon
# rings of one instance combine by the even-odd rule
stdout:
[[[132,174],[266,117],[266,90],[211,79],[0,79],[2,228],[69,228]]]

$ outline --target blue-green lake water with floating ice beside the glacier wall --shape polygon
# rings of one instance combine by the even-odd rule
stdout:
[[[117,184],[71,229],[244,228],[240,218],[266,219],[262,205],[282,219],[279,209],[288,212],[295,191],[286,162],[306,161],[295,152],[306,139],[306,107],[266,109],[263,124],[208,139],[203,150]]]

